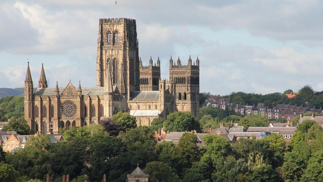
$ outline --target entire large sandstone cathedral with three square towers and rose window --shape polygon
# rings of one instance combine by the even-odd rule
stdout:
[[[61,128],[99,124],[104,117],[128,112],[137,125],[149,126],[154,118],[175,111],[189,111],[198,117],[199,59],[187,65],[169,60],[169,80],[161,80],[161,61],[150,58],[143,66],[139,58],[136,20],[99,20],[96,87],[48,88],[42,65],[38,87],[34,89],[29,63],[24,88],[24,116],[39,133],[59,133]]]

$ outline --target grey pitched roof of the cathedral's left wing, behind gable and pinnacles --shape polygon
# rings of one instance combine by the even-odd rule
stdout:
[[[62,93],[64,89],[65,88],[59,88],[60,93]],[[55,91],[55,88],[37,88],[35,91],[35,95],[55,95]],[[82,95],[104,95],[104,87],[82,88]]]

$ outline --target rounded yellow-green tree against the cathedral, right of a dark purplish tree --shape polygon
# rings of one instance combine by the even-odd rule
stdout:
[[[112,116],[112,120],[121,126],[122,131],[137,127],[136,117],[130,115],[128,112],[118,112]]]

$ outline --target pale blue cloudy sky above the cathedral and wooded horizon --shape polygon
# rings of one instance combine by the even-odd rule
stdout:
[[[117,3],[116,3],[117,2]],[[200,92],[323,90],[321,0],[1,0],[0,88],[96,86],[99,18],[134,18],[148,65],[200,60]]]

